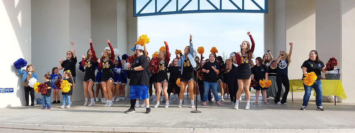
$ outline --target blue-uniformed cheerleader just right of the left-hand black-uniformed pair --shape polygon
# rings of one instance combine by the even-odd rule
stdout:
[[[122,83],[122,79],[121,79],[121,71],[122,71],[122,65],[120,64],[121,63],[121,59],[120,59],[120,56],[117,56],[118,60],[115,60],[114,62],[114,66],[113,66],[113,75],[114,75],[114,81],[113,81],[113,85],[112,85],[112,95],[115,94],[115,91],[116,91],[116,100],[115,100],[115,97],[113,96],[112,97],[112,100],[115,100],[115,101],[120,101],[120,87],[121,87],[121,83]],[[120,62],[119,62],[120,61]]]

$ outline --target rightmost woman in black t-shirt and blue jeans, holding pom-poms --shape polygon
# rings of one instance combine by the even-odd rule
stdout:
[[[327,71],[325,70],[324,63],[319,60],[318,57],[318,52],[316,50],[310,51],[309,58],[305,62],[303,62],[302,66],[302,72],[303,74],[307,74],[310,72],[315,72],[317,75],[316,82],[313,83],[311,86],[307,86],[303,84],[303,87],[305,88],[305,95],[303,96],[303,103],[301,106],[300,110],[306,110],[306,107],[308,105],[308,101],[310,100],[310,95],[312,88],[316,92],[316,105],[317,105],[317,110],[319,111],[324,111],[323,106],[322,106],[322,82],[321,82],[321,72],[326,73]],[[305,76],[303,76],[304,78]],[[302,79],[303,79],[302,78]]]

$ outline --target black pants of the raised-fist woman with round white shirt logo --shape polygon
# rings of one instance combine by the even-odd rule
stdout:
[[[277,103],[280,101],[281,91],[282,91],[282,84],[285,87],[284,95],[282,96],[282,100],[280,101],[281,104],[286,103],[287,95],[290,92],[290,82],[288,79],[288,75],[276,75],[276,84],[277,84],[277,93],[274,102]]]

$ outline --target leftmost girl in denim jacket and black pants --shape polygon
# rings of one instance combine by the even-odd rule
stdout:
[[[37,81],[38,81],[38,76],[37,76],[36,73],[34,73],[33,66],[31,64],[27,65],[26,66],[26,71],[21,71],[21,69],[18,69],[17,73],[22,74],[22,84],[24,86],[24,96],[25,96],[25,99],[26,99],[26,105],[25,106],[28,106],[28,104],[29,104],[29,99],[28,99],[29,97],[28,96],[30,94],[31,94],[31,106],[34,106],[34,88],[29,87],[29,85],[28,85],[28,81],[32,77],[36,78]]]

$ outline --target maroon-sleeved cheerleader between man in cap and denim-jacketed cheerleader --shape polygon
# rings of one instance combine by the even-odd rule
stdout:
[[[168,43],[164,41],[165,44],[165,49],[160,52],[159,58],[159,65],[158,65],[158,72],[157,72],[157,99],[160,99],[160,93],[162,90],[163,86],[163,93],[165,95],[165,108],[169,107],[169,96],[168,96],[168,73],[167,69],[169,66],[169,61],[170,61],[170,53],[169,53],[169,47]],[[155,104],[154,108],[157,108],[160,105],[160,101],[157,101],[157,104]]]

